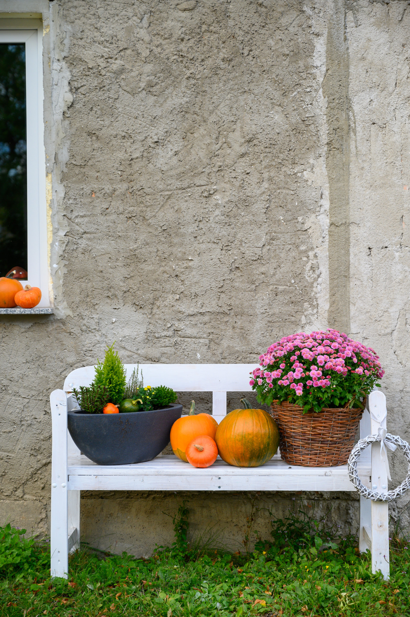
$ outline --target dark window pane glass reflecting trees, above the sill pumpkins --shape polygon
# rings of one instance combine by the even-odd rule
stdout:
[[[27,270],[24,44],[0,44],[0,276]]]

